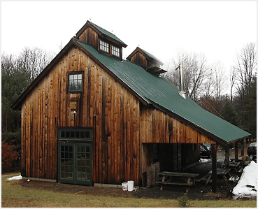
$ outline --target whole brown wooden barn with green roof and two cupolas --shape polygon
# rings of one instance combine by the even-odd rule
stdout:
[[[156,161],[161,171],[182,171],[211,143],[215,169],[217,145],[250,135],[178,94],[145,50],[122,59],[126,47],[87,21],[13,104],[22,177],[141,186]]]

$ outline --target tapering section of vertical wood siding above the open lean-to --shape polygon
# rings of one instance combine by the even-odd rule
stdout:
[[[215,143],[199,131],[155,108],[141,109],[141,143]]]

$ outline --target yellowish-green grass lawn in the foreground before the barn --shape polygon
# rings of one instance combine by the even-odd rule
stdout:
[[[25,188],[15,183],[19,180],[7,180],[20,173],[3,174],[1,177],[1,206],[5,208],[178,208],[178,199],[122,198],[110,196],[93,196],[80,192],[54,192],[44,189]],[[216,200],[192,201],[193,208],[256,208],[256,200]]]

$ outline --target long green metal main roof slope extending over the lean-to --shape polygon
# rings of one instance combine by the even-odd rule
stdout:
[[[76,41],[147,103],[157,103],[196,127],[224,140],[224,143],[250,136],[248,132],[204,110],[189,97],[183,99],[178,94],[178,88],[162,75],[148,73],[141,66],[127,60],[121,61],[102,55],[92,46]]]

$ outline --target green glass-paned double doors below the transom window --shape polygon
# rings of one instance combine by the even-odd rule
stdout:
[[[92,185],[92,145],[58,144],[58,181],[76,185]]]

